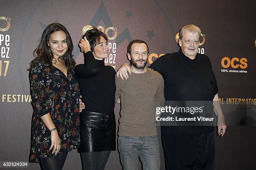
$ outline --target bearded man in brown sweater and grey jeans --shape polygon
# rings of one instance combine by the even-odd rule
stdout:
[[[145,170],[159,170],[159,142],[156,107],[164,106],[164,80],[146,66],[148,45],[133,40],[128,45],[132,74],[128,80],[115,79],[115,99],[120,97],[118,150],[124,170],[138,170],[140,156]]]

